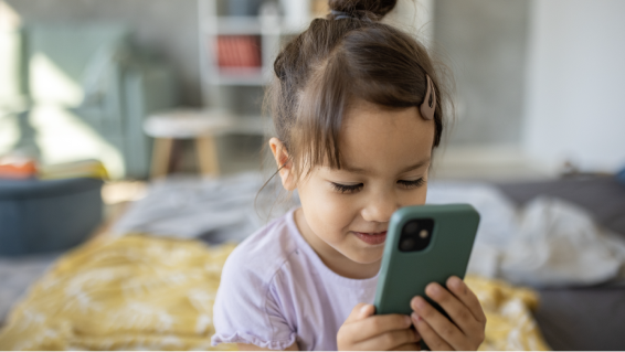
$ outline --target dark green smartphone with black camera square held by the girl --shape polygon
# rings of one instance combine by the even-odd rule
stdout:
[[[412,313],[414,296],[425,298],[425,287],[446,287],[455,275],[464,279],[479,214],[469,204],[414,205],[391,216],[375,291],[375,313]],[[422,349],[424,344],[422,342]]]

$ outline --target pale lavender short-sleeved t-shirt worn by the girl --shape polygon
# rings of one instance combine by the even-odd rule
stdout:
[[[359,302],[373,303],[378,276],[330,270],[299,233],[294,211],[259,230],[227,258],[213,319],[219,343],[282,351],[337,351],[337,332]]]

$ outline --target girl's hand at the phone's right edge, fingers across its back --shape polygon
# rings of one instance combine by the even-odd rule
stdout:
[[[454,321],[432,307],[423,297],[411,301],[412,321],[430,349],[438,351],[476,351],[484,341],[486,316],[474,292],[458,277],[447,280],[446,290],[430,284],[425,294],[437,302]],[[454,324],[455,323],[455,324]]]

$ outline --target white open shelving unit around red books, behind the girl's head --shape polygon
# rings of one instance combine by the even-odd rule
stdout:
[[[273,62],[282,43],[306,30],[311,19],[325,15],[327,0],[266,0],[278,4],[284,15],[227,15],[225,8],[235,0],[198,0],[199,52],[202,102],[209,108],[230,110],[237,126],[248,126],[246,132],[263,134],[261,118],[262,93],[254,102],[245,90],[262,90],[273,75]],[[242,0],[236,0],[242,1]],[[258,0],[250,0],[258,1]],[[399,1],[396,9],[384,18],[411,31],[424,30],[430,38],[433,0]],[[419,11],[417,11],[419,10]],[[257,68],[223,70],[216,60],[220,35],[253,35],[259,38],[262,66]],[[252,104],[251,104],[252,102]],[[237,111],[241,106],[255,105],[255,111]],[[250,121],[247,124],[246,121]],[[252,122],[253,121],[253,122]],[[258,128],[252,128],[256,126]]]

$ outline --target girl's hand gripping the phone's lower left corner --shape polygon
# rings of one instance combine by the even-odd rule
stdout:
[[[339,329],[339,352],[420,351],[419,333],[409,316],[373,316],[375,308],[358,303]]]

